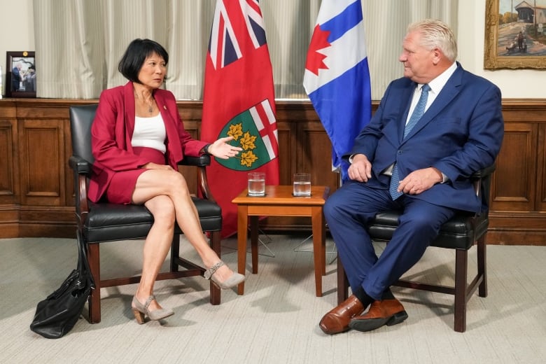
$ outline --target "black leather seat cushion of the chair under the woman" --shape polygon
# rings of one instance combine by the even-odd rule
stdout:
[[[215,202],[193,197],[204,231],[222,229],[222,211]],[[153,223],[153,216],[144,205],[90,204],[84,224],[87,243],[144,239]],[[178,225],[175,234],[181,234]]]

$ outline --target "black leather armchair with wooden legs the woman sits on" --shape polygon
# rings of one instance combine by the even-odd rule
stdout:
[[[87,257],[93,274],[96,288],[89,298],[89,321],[101,321],[100,295],[101,288],[138,283],[140,276],[104,279],[100,273],[100,243],[106,241],[144,239],[153,223],[153,216],[144,206],[93,203],[87,200],[87,183],[94,158],[91,152],[91,125],[97,104],[71,106],[70,125],[72,138],[72,156],[69,165],[73,169],[74,191],[76,194],[77,237],[87,246]],[[211,196],[205,167],[210,165],[209,155],[198,158],[186,157],[181,165],[192,165],[199,168],[200,190],[203,199],[194,197],[193,202],[199,212],[204,232],[209,232],[211,248],[220,256],[222,214],[221,208]],[[158,280],[176,279],[186,276],[202,276],[204,267],[200,267],[179,256],[180,228],[176,226],[171,246],[169,272],[160,272]],[[179,270],[179,267],[185,269]],[[210,283],[210,302],[220,304],[220,289]]]

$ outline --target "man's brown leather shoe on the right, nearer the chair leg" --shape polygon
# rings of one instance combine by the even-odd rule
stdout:
[[[407,318],[407,313],[400,301],[374,301],[370,309],[362,316],[355,316],[349,323],[349,328],[358,331],[371,331],[383,325],[392,326]]]

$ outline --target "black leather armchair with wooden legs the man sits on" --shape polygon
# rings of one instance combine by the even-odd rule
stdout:
[[[440,248],[455,250],[455,282],[453,287],[420,283],[416,281],[397,281],[394,286],[428,290],[437,293],[454,295],[454,330],[464,332],[466,330],[466,303],[472,294],[478,289],[479,297],[487,296],[486,276],[486,234],[489,226],[489,193],[491,186],[491,174],[495,165],[482,169],[470,177],[474,183],[477,195],[482,197],[484,211],[481,214],[458,212],[447,223],[442,225],[439,235],[430,244]],[[373,240],[388,241],[398,227],[398,212],[386,211],[375,216],[374,221],[368,225],[370,237]],[[472,246],[477,246],[477,274],[468,283],[468,251]],[[348,296],[349,282],[341,260],[337,260],[337,301],[346,300]]]

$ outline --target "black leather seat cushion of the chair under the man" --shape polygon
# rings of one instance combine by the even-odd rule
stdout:
[[[400,213],[397,211],[385,211],[377,214],[374,221],[368,225],[370,237],[377,240],[390,240],[394,230],[398,228],[399,216]],[[439,235],[430,246],[468,250],[474,241],[484,235],[488,226],[487,213],[474,216],[471,213],[458,212],[442,225]]]

